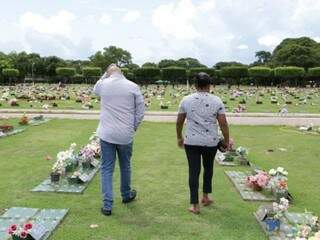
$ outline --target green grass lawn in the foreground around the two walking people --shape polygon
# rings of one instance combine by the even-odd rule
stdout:
[[[51,238],[55,240],[266,239],[252,215],[260,203],[241,199],[224,174],[230,168],[215,166],[214,206],[202,208],[199,216],[186,211],[187,162],[176,147],[174,124],[143,123],[133,157],[138,200],[127,206],[120,203],[117,167],[112,217],[100,214],[100,176],[83,195],[30,192],[49,174],[52,162],[44,157],[55,156],[72,142],[87,143],[96,125],[88,120],[53,120],[0,139],[0,211],[13,206],[70,208]],[[291,211],[308,209],[320,215],[320,139],[280,129],[232,126],[231,133],[238,145],[249,148],[254,164],[265,169],[283,166],[289,171],[289,188],[295,197]],[[267,149],[274,152],[267,153]],[[99,227],[91,229],[90,224]]]

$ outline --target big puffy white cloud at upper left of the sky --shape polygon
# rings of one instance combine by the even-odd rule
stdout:
[[[68,11],[60,11],[56,15],[45,17],[38,13],[26,12],[19,19],[25,31],[68,36],[72,32],[71,24],[76,16]]]

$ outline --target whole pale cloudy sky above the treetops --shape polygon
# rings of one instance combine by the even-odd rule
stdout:
[[[250,63],[283,38],[320,40],[319,0],[0,0],[0,51],[86,59],[105,46],[135,62]]]

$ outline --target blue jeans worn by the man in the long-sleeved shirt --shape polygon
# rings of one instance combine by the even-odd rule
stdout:
[[[103,194],[103,208],[112,209],[113,190],[112,177],[116,162],[116,153],[119,158],[121,173],[121,196],[127,200],[131,196],[131,156],[132,143],[128,145],[118,145],[100,140],[102,163],[101,163],[101,184]]]

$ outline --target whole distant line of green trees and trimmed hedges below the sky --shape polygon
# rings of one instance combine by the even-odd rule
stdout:
[[[308,38],[283,40],[272,53],[256,52],[256,61],[218,62],[212,67],[195,58],[164,59],[146,62],[141,67],[132,61],[130,52],[110,46],[96,52],[88,60],[64,60],[56,56],[41,57],[37,53],[4,54],[0,52],[0,83],[13,84],[25,79],[49,83],[95,83],[106,67],[116,63],[125,76],[139,84],[153,84],[163,80],[172,85],[192,84],[193,76],[206,72],[215,84],[252,84],[257,86],[320,85],[320,43]],[[160,81],[161,82],[161,81]]]

